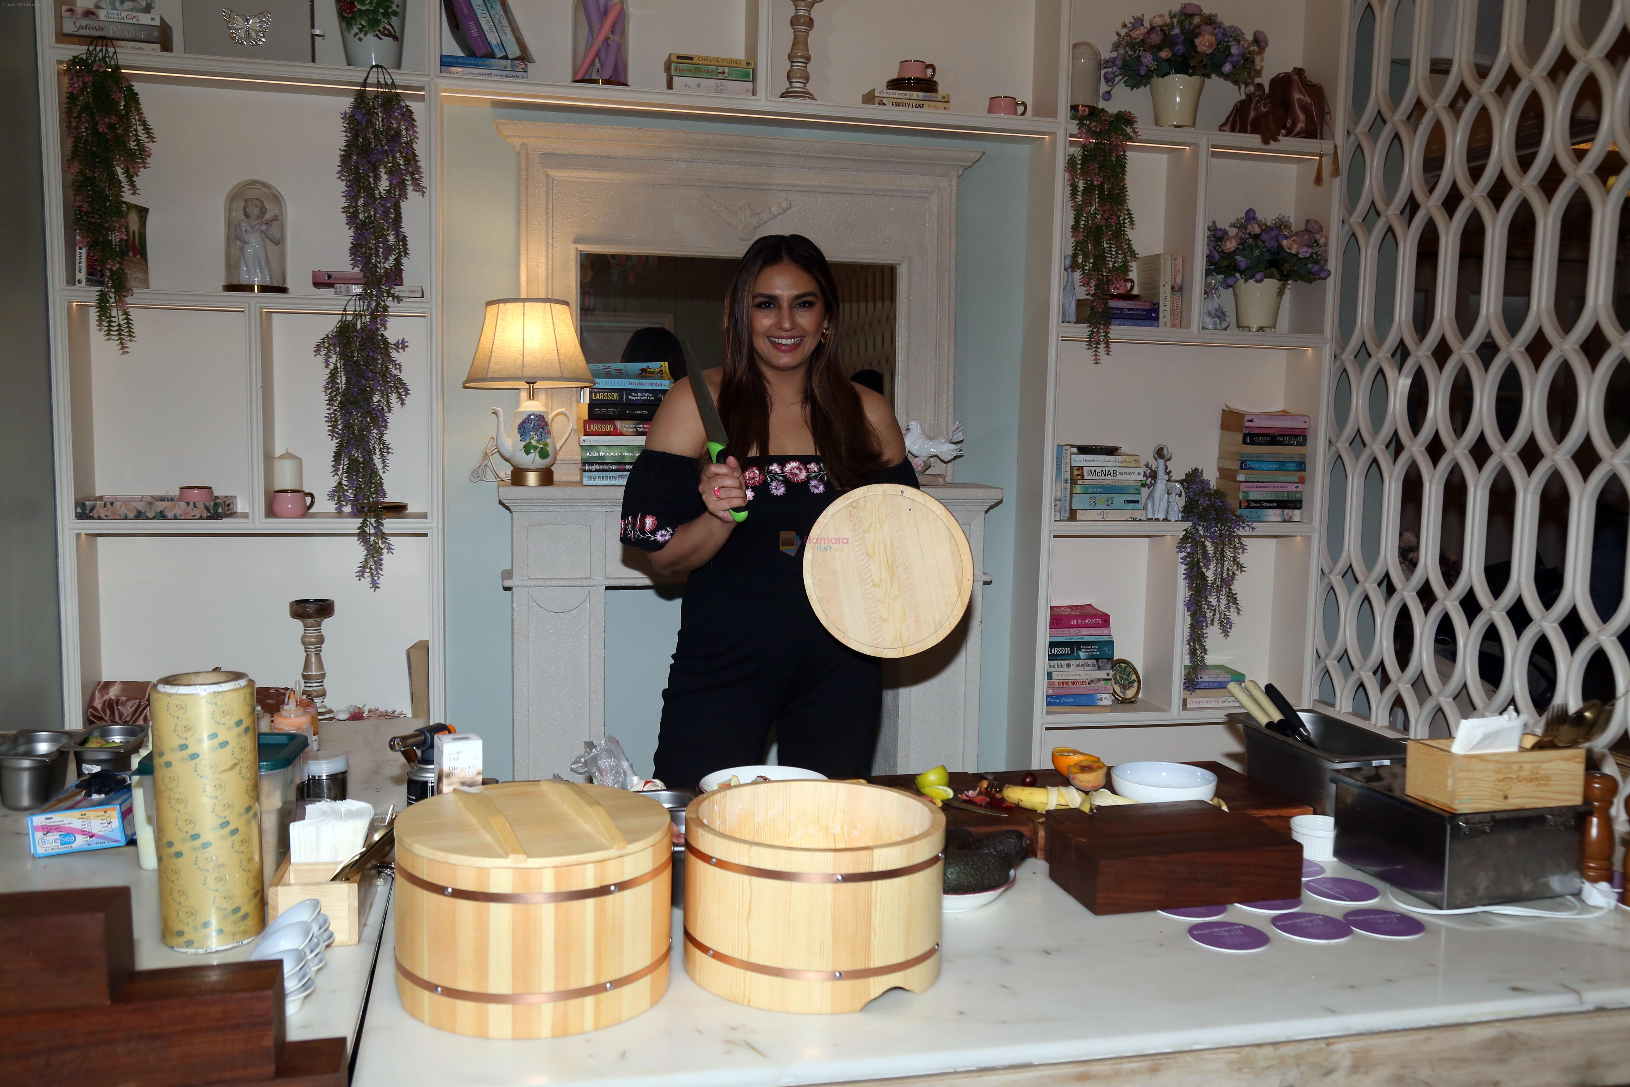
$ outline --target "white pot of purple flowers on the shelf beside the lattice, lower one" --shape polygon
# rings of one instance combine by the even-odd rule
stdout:
[[[1330,279],[1328,246],[1317,218],[1296,230],[1289,215],[1260,218],[1247,207],[1227,227],[1206,227],[1206,272],[1234,288],[1234,324],[1240,331],[1271,332],[1286,287]]]

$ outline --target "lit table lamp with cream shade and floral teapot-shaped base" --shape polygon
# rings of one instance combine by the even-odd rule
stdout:
[[[585,388],[595,380],[572,328],[572,308],[559,298],[494,298],[481,326],[481,342],[469,362],[466,389],[522,389],[515,429],[497,416],[497,445],[510,463],[510,484],[543,487],[554,482],[554,458],[577,429],[572,412],[549,411],[538,399],[543,388]],[[566,416],[566,437],[551,429]]]

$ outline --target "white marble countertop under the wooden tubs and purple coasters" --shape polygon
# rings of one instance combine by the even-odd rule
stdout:
[[[1390,906],[1386,890],[1374,904]],[[1311,896],[1302,908],[1348,909]],[[996,903],[945,916],[944,968],[926,994],[893,989],[856,1014],[792,1015],[693,984],[675,911],[673,970],[655,1007],[543,1041],[466,1038],[411,1019],[386,931],[352,1084],[826,1084],[1630,1007],[1622,909],[1584,921],[1423,918],[1413,940],[1355,934],[1330,947],[1278,935],[1265,914],[1227,916],[1273,934],[1271,945],[1229,955],[1195,945],[1174,918],[1097,918],[1045,862],[1025,860]]]

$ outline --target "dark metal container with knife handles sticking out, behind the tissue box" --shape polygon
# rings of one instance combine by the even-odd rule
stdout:
[[[1407,745],[1340,717],[1296,711],[1319,750],[1268,732],[1250,714],[1227,714],[1245,730],[1245,776],[1280,795],[1312,805],[1319,815],[1335,813],[1335,782],[1341,769],[1403,763]]]

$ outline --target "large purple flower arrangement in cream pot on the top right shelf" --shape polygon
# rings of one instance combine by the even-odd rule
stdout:
[[[1104,101],[1117,83],[1148,86],[1154,98],[1154,124],[1167,129],[1195,127],[1200,91],[1211,77],[1250,88],[1262,78],[1262,54],[1268,36],[1245,34],[1198,3],[1157,11],[1148,20],[1121,23],[1115,49],[1104,62]]]

